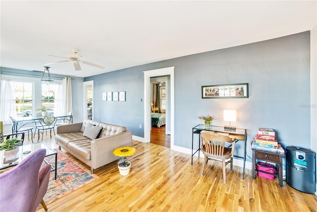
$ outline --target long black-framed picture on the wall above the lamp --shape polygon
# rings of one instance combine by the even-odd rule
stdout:
[[[249,98],[249,83],[202,86],[202,98]]]

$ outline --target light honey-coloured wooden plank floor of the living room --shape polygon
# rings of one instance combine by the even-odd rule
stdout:
[[[56,147],[54,139],[44,142]],[[314,194],[299,192],[286,182],[280,188],[276,178],[253,180],[247,169],[242,180],[242,168],[234,166],[230,172],[227,166],[227,183],[222,184],[221,163],[208,162],[209,171],[202,177],[202,158],[194,157],[191,165],[190,155],[164,146],[139,141],[133,146],[137,153],[129,158],[129,175],[121,176],[114,161],[95,170],[99,179],[49,204],[48,211],[317,211]]]

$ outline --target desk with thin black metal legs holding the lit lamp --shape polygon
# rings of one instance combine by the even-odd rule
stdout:
[[[200,132],[203,130],[207,130],[207,131],[214,131],[214,132],[220,132],[220,133],[229,133],[228,137],[235,138],[238,141],[244,141],[244,151],[243,151],[243,157],[240,156],[234,156],[234,157],[238,157],[238,158],[243,158],[243,175],[242,175],[242,179],[244,180],[244,169],[246,167],[246,150],[247,150],[247,130],[246,129],[239,129],[237,128],[236,131],[226,131],[224,130],[224,127],[219,127],[219,126],[210,126],[210,127],[205,127],[205,125],[197,125],[195,127],[193,127],[192,129],[192,165],[193,165],[193,156],[194,154],[196,154],[196,152],[198,151],[198,156],[200,156]],[[194,135],[198,134],[199,135],[199,148],[194,151]]]

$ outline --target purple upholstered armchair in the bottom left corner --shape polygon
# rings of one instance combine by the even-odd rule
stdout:
[[[45,154],[45,149],[39,149],[0,174],[1,212],[35,212],[40,203],[48,210],[43,197],[48,190],[51,165],[41,168]]]

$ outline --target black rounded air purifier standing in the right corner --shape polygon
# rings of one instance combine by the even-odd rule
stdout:
[[[286,183],[301,192],[316,192],[315,152],[296,146],[286,147]]]

